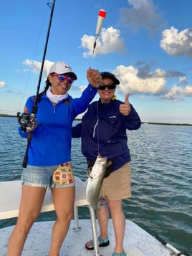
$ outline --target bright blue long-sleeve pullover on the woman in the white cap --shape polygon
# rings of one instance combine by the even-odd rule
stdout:
[[[46,95],[37,103],[37,128],[32,132],[29,144],[28,162],[32,166],[54,166],[71,161],[72,121],[83,113],[97,89],[88,85],[80,98],[68,97],[53,105]],[[27,100],[26,107],[32,113],[34,97]],[[21,137],[27,137],[19,127]]]

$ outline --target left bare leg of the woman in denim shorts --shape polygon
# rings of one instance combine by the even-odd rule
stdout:
[[[45,188],[22,186],[19,216],[9,238],[7,256],[21,255],[27,234],[42,209],[45,192]]]

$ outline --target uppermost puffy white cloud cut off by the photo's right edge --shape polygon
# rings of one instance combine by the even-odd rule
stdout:
[[[178,32],[178,29],[171,27],[162,32],[162,37],[160,47],[169,55],[192,57],[192,29]]]

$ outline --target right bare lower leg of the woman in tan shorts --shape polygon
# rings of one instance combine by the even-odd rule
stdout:
[[[115,252],[123,252],[123,240],[125,234],[125,215],[122,210],[121,200],[108,202],[115,232]]]

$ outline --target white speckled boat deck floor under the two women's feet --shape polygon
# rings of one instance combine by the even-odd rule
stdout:
[[[36,222],[29,232],[27,242],[24,246],[22,256],[46,256],[49,252],[50,238],[52,233],[53,221]],[[90,219],[79,220],[80,230],[74,230],[75,222],[72,220],[69,232],[62,245],[61,256],[93,256],[94,251],[85,249],[85,243],[92,239],[92,224]],[[13,227],[0,229],[0,252],[1,256],[6,256],[7,242]],[[97,230],[98,227],[97,227]],[[109,222],[108,247],[99,248],[100,255],[111,256],[115,246],[115,237],[112,229],[112,220]],[[155,237],[137,224],[126,220],[124,249],[127,256],[170,256],[171,251],[161,245]]]

